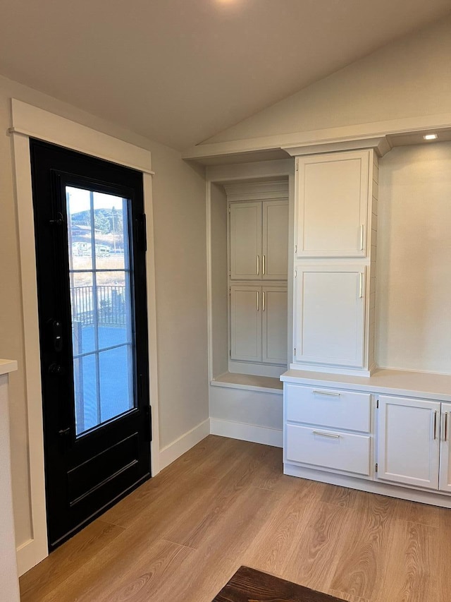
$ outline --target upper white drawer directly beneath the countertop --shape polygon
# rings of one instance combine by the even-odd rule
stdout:
[[[370,431],[371,395],[285,385],[286,418],[350,431]]]

